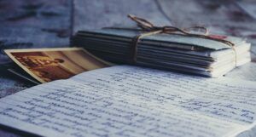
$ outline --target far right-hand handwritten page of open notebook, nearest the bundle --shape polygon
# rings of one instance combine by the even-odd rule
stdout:
[[[130,67],[131,70],[124,71],[123,67],[126,69],[127,67]],[[182,101],[169,100],[164,101],[164,103],[167,102],[168,105],[172,104],[175,106],[181,106],[182,108],[186,108],[188,111],[200,112],[208,117],[223,119],[231,123],[250,124],[241,130],[255,126],[256,85],[253,82],[233,80],[225,77],[193,77],[134,66],[119,66],[116,68],[118,69],[114,70],[111,68],[108,74],[113,72],[116,74],[114,75],[115,78],[117,77],[118,79],[122,79],[122,83],[130,85],[131,83],[134,83],[133,86],[136,88],[129,87],[131,88],[131,91],[137,90],[138,87],[144,87],[143,89],[146,90],[149,89],[148,87],[154,88],[157,89],[157,93],[162,94],[155,94],[155,90],[152,90],[154,91],[154,94],[150,93],[150,95],[153,97],[152,99],[154,99],[155,96],[163,98],[165,96],[167,100],[169,100],[167,97],[168,95],[171,97],[176,95],[179,96],[176,99],[179,99],[180,96],[182,96]],[[77,78],[79,83],[82,83],[83,81],[86,83],[86,78],[80,78],[82,75],[73,77],[73,79]],[[88,77],[88,75],[89,74],[87,74],[86,77]],[[97,76],[96,74],[92,74],[92,77]],[[101,76],[101,78],[108,79],[109,77]],[[101,81],[101,78],[97,80]],[[125,82],[124,79],[129,78],[130,80]],[[137,81],[134,81],[134,78],[137,79]],[[99,83],[99,81],[96,83]],[[117,83],[113,83],[113,85],[114,84]],[[139,86],[137,87],[136,85]],[[145,94],[149,93],[143,93],[143,95]],[[189,95],[194,96],[189,98]],[[159,100],[159,98],[157,100]]]

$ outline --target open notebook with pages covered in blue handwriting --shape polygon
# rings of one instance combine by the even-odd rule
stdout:
[[[88,71],[0,100],[0,123],[44,136],[236,136],[256,84],[136,66]]]

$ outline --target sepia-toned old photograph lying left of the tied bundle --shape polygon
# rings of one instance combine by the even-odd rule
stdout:
[[[84,71],[110,66],[81,48],[8,49],[6,54],[41,83],[67,79]]]

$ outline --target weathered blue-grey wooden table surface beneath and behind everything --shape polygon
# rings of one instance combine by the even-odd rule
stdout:
[[[0,98],[32,84],[6,71],[3,49],[68,47],[76,31],[104,26],[131,26],[136,14],[163,26],[207,26],[213,33],[246,37],[256,62],[255,0],[1,0]],[[0,128],[0,136],[27,136]]]

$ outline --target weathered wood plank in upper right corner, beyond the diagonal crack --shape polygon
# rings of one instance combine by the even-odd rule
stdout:
[[[207,26],[211,32],[246,37],[253,43],[256,61],[256,1],[158,0],[160,7],[179,27]],[[186,4],[184,4],[186,3]]]

